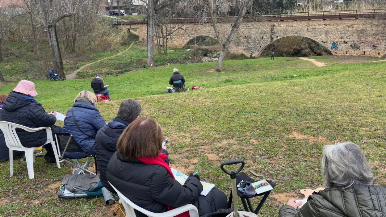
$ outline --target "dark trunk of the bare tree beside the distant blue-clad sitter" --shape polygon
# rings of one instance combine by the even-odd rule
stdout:
[[[52,24],[47,27],[47,34],[48,42],[51,47],[55,72],[59,75],[59,77],[66,78],[66,75],[64,75],[63,60],[60,53],[58,35],[56,33],[56,24]]]

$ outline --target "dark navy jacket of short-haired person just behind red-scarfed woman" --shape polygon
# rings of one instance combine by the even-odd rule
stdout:
[[[95,136],[95,151],[97,152],[100,181],[110,192],[115,191],[107,182],[107,164],[114,152],[117,151],[117,141],[120,135],[129,124],[130,122],[116,117],[102,127]]]

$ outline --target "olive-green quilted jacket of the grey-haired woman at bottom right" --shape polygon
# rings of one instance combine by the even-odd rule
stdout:
[[[385,217],[386,186],[332,187],[308,197],[297,212],[283,206],[279,217]]]

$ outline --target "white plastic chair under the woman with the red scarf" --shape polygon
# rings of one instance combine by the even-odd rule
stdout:
[[[108,182],[110,183],[110,181]],[[150,212],[146,209],[143,209],[135,203],[131,202],[127,197],[125,197],[122,193],[120,193],[117,188],[115,188],[111,183],[110,185],[114,188],[115,192],[117,192],[119,196],[119,201],[122,202],[125,212],[126,212],[126,217],[136,217],[134,210],[138,210],[139,212],[142,212],[143,214],[149,216],[149,217],[173,217],[178,214],[184,213],[186,211],[189,211],[190,217],[198,217],[198,210],[197,207],[195,207],[192,204],[186,204],[185,206],[178,207],[176,209],[170,210],[168,212],[162,212],[162,213],[155,213],[155,212]]]

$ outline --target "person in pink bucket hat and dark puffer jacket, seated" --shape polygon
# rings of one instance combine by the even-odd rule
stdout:
[[[32,81],[21,80],[4,101],[1,120],[30,128],[51,127],[52,138],[54,139],[54,134],[62,131],[61,127],[54,125],[56,112],[47,114],[42,105],[36,101],[36,95],[35,84]],[[45,130],[27,132],[16,129],[16,132],[24,147],[39,147],[47,142]],[[44,148],[47,150],[44,159],[54,163],[55,155],[51,143],[44,145]]]

